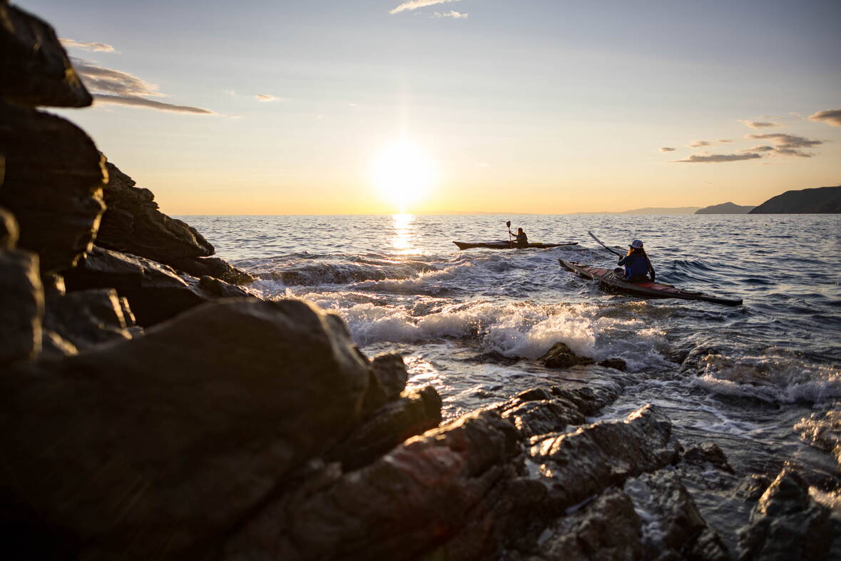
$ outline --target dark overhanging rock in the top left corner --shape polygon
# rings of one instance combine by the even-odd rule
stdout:
[[[0,98],[28,105],[93,103],[50,24],[0,2]]]

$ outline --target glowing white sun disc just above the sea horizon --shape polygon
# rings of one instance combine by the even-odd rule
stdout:
[[[383,199],[402,213],[429,193],[436,181],[436,166],[420,146],[401,138],[379,152],[372,177]]]

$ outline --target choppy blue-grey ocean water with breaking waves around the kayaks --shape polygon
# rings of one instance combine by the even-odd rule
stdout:
[[[841,216],[182,219],[257,275],[251,290],[335,310],[369,356],[403,354],[410,387],[433,384],[447,418],[535,386],[610,384],[621,397],[603,416],[654,403],[685,447],[717,442],[742,471],[775,474],[793,460],[817,487],[838,485],[835,460],[793,427],[841,403]],[[530,241],[579,246],[452,244],[507,240],[505,220]],[[607,294],[558,266],[561,257],[615,267],[587,230],[611,245],[642,239],[659,281],[744,304]],[[534,359],[556,341],[596,360],[619,357],[628,372],[542,368]],[[706,513],[722,508],[711,497]]]

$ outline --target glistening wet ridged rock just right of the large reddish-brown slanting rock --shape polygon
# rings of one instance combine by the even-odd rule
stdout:
[[[554,509],[561,511],[629,477],[676,462],[680,443],[669,418],[645,405],[621,421],[534,437],[529,453],[547,482]]]

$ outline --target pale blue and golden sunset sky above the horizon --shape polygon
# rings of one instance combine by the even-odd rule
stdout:
[[[18,5],[102,96],[56,112],[168,214],[616,211],[841,183],[838,0]]]

